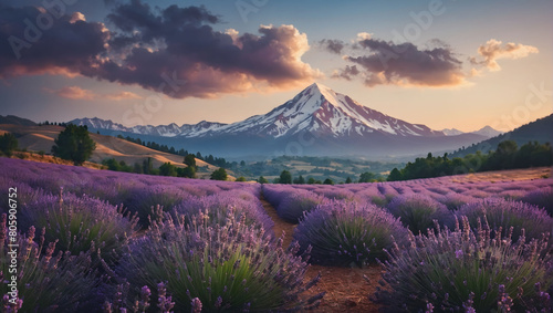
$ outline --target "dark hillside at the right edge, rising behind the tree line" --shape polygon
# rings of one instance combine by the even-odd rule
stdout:
[[[498,144],[504,140],[514,140],[520,147],[529,142],[538,142],[540,144],[553,144],[553,114],[543,118],[536,119],[526,125],[522,125],[511,132],[498,135],[487,140],[474,144],[473,146],[460,149],[452,154],[452,157],[463,157],[468,154],[482,152],[487,154],[490,150],[498,148]]]

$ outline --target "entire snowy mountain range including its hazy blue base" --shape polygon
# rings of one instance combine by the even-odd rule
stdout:
[[[226,157],[238,156],[405,156],[453,150],[497,131],[446,134],[361,105],[349,96],[312,84],[263,115],[222,124],[200,122],[125,127],[112,121],[79,118],[104,134],[122,134]],[[494,133],[493,133],[494,134]]]

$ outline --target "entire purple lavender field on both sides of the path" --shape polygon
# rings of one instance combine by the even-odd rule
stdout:
[[[2,199],[17,190],[17,218],[1,206],[1,307],[316,311],[325,294],[306,271],[317,264],[382,267],[366,296],[384,311],[550,312],[552,188],[552,178],[259,185],[0,158]],[[290,247],[275,222],[296,225]]]

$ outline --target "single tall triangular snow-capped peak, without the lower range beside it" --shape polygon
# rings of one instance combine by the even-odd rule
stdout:
[[[210,135],[249,133],[279,138],[301,132],[333,137],[364,136],[374,132],[398,136],[444,135],[425,125],[410,124],[362,106],[317,83],[268,114],[221,126]]]

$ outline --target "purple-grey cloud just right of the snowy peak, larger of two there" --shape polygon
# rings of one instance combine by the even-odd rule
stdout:
[[[439,43],[432,41],[435,48],[419,49],[409,42],[395,44],[373,39],[368,33],[359,33],[352,48],[362,51],[362,54],[345,55],[343,59],[353,65],[337,70],[333,77],[359,77],[367,86],[395,84],[437,87],[466,83],[462,62],[449,46]]]

